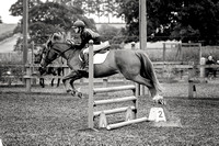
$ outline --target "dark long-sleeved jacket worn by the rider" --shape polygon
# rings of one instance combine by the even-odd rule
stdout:
[[[87,47],[90,40],[93,40],[93,44],[95,44],[95,45],[101,44],[100,34],[92,31],[91,29],[82,30],[80,37],[81,37],[81,44],[79,45],[79,48]]]

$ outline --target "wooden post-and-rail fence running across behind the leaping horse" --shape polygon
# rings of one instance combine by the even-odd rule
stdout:
[[[0,65],[0,68],[13,68],[13,67],[24,67],[23,65]],[[26,86],[26,91],[31,91],[31,87],[32,87],[32,80],[33,79],[37,79],[37,78],[45,78],[45,79],[49,79],[49,78],[62,78],[62,76],[38,76],[35,75],[34,69],[38,68],[39,65],[26,65],[26,72],[25,75],[22,76],[22,78],[25,80],[25,86]],[[64,67],[66,72],[68,72],[69,67],[67,65],[62,65],[62,66],[58,66],[58,65],[50,65],[48,67]],[[159,61],[159,63],[153,63],[153,67],[155,69],[163,69],[163,68],[175,68],[175,69],[188,69],[189,71],[189,77],[188,77],[188,97],[194,97],[192,92],[194,92],[194,86],[197,82],[201,82],[201,81],[197,81],[197,80],[204,80],[204,78],[199,78],[199,77],[195,77],[195,71],[197,69],[200,68],[219,68],[219,65],[194,65],[194,64],[188,64],[186,61],[182,63],[182,61]],[[15,78],[14,75],[1,75],[1,78]],[[104,80],[105,86],[107,86],[107,79]],[[134,86],[129,86],[130,89],[134,89]],[[128,89],[129,89],[128,88]],[[111,89],[112,91],[114,90],[114,88]],[[117,90],[115,88],[115,90]],[[119,90],[119,89],[118,89]],[[101,90],[94,90],[94,93],[96,92],[102,92]]]

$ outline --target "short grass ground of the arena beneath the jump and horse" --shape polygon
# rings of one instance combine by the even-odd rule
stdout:
[[[196,98],[187,98],[187,82],[162,83],[166,105],[162,105],[166,120],[178,120],[178,126],[154,126],[153,122],[131,124],[113,131],[88,128],[88,83],[77,85],[82,99],[65,92],[64,87],[35,86],[32,92],[24,87],[1,87],[0,138],[3,145],[218,145],[219,91],[216,82],[197,85]],[[127,82],[128,83],[128,82]],[[110,83],[115,87],[118,83]],[[96,86],[102,86],[97,83]],[[108,92],[95,99],[129,96],[131,91]],[[127,104],[126,102],[120,104]],[[154,103],[147,94],[139,98],[139,117],[148,116]],[[99,106],[112,109],[118,104]],[[124,113],[107,115],[108,123],[124,120]],[[97,127],[97,119],[94,127]]]

